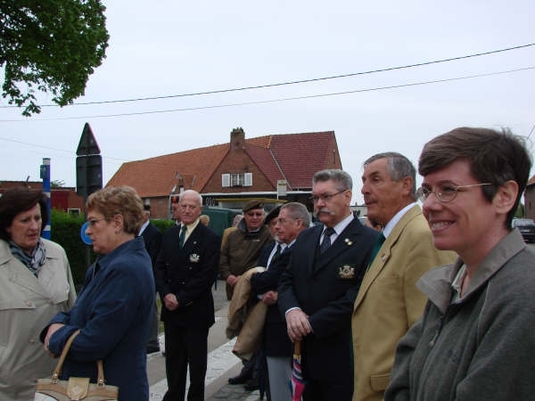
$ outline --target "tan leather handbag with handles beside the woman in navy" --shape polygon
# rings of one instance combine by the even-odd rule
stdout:
[[[103,361],[96,361],[97,382],[89,382],[86,377],[70,377],[68,381],[59,380],[63,362],[70,345],[80,331],[75,331],[65,343],[62,355],[53,370],[52,377],[38,379],[34,401],[116,401],[119,388],[104,382]]]

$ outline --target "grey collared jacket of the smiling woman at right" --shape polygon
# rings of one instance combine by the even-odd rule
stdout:
[[[418,282],[429,301],[399,340],[386,401],[535,399],[535,252],[514,230],[451,302],[461,264]]]

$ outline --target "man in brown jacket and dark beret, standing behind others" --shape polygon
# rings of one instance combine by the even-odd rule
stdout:
[[[243,206],[243,219],[237,230],[228,234],[221,248],[219,271],[226,281],[226,298],[232,299],[235,283],[252,267],[258,266],[259,254],[264,245],[273,241],[267,225],[264,225],[264,203],[248,201]],[[256,358],[243,364],[240,374],[228,379],[230,384],[243,384],[252,379]]]

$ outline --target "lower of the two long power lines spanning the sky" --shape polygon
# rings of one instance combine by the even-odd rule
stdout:
[[[363,92],[374,92],[374,91],[380,91],[380,90],[399,89],[399,88],[410,87],[410,86],[423,86],[423,85],[430,85],[430,84],[439,84],[439,83],[452,82],[452,81],[457,81],[457,80],[462,80],[462,79],[472,79],[472,78],[490,77],[490,76],[495,76],[495,75],[503,75],[503,74],[509,74],[509,73],[513,73],[513,72],[524,71],[524,70],[535,70],[535,66],[520,68],[520,69],[516,69],[516,70],[505,70],[505,71],[497,71],[497,72],[489,72],[489,73],[483,73],[483,74],[469,75],[469,76],[465,76],[465,77],[434,79],[434,80],[430,80],[430,81],[413,82],[413,83],[408,83],[408,84],[400,84],[400,85],[392,85],[392,86],[377,86],[377,87],[364,88],[364,89],[354,89],[354,90],[343,91],[343,92],[334,92],[334,93],[329,93],[329,94],[310,94],[310,95],[306,95],[306,96],[286,97],[286,98],[271,99],[271,100],[265,100],[265,101],[234,102],[234,103],[213,104],[213,105],[209,105],[209,106],[188,107],[188,108],[183,108],[183,109],[135,111],[135,112],[128,112],[128,113],[102,114],[102,115],[78,116],[78,117],[60,117],[60,118],[50,118],[50,119],[31,119],[31,120],[29,120],[29,119],[0,119],[0,123],[2,123],[2,122],[22,122],[22,121],[24,121],[24,122],[27,122],[27,121],[58,121],[58,120],[68,120],[68,119],[105,119],[105,118],[113,118],[113,117],[139,116],[139,115],[146,115],[146,114],[163,114],[163,113],[181,112],[181,111],[209,110],[209,109],[219,109],[219,108],[226,108],[226,107],[249,106],[249,105],[255,105],[255,104],[266,104],[266,103],[274,103],[274,102],[290,102],[290,101],[295,101],[295,100],[313,99],[313,98],[319,98],[319,97],[339,96],[339,95],[343,95],[343,94],[358,94],[358,93],[363,93]]]

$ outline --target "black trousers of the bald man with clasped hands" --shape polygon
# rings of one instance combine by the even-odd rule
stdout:
[[[204,401],[204,379],[208,354],[208,328],[177,327],[164,323],[165,370],[168,391],[163,401],[185,400],[185,379],[189,365],[188,401]]]

